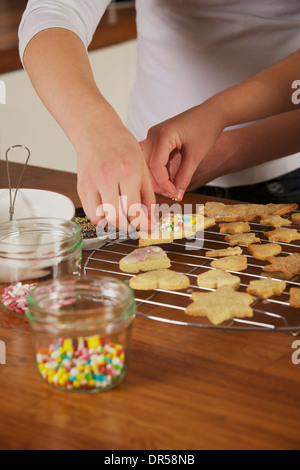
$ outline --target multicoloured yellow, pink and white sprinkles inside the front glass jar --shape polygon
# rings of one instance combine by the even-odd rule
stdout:
[[[45,382],[67,391],[111,388],[124,371],[125,350],[103,336],[59,339],[36,355]]]

